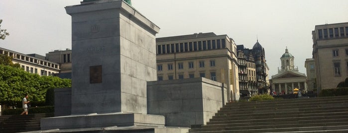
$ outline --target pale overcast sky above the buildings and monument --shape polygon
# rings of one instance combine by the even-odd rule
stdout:
[[[83,0],[0,0],[1,29],[10,33],[0,47],[45,56],[71,49],[71,17],[64,7]],[[288,47],[305,73],[312,58],[315,25],[348,22],[348,0],[132,0],[159,26],[156,37],[214,32],[252,48],[258,37],[271,75]]]

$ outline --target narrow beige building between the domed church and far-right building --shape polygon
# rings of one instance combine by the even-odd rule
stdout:
[[[316,74],[315,74],[315,62],[314,59],[306,59],[305,61],[306,73],[307,73],[307,88],[308,91],[317,89]]]

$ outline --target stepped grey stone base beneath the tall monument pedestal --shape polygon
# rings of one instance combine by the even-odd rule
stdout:
[[[108,113],[41,119],[41,131],[27,133],[187,133],[189,128],[165,127],[160,115]],[[117,132],[118,133],[118,132]]]

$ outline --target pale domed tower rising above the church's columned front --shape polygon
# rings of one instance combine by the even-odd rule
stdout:
[[[285,53],[280,58],[281,61],[281,71],[285,70],[295,70],[294,56],[289,53],[288,48],[285,49]]]

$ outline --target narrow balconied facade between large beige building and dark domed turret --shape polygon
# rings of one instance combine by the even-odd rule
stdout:
[[[243,94],[242,96],[257,94],[255,60],[251,50],[244,48],[243,45],[237,45],[237,56],[239,92]],[[247,94],[244,94],[245,92]]]

